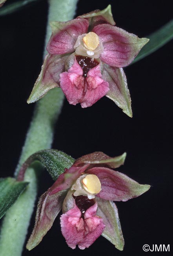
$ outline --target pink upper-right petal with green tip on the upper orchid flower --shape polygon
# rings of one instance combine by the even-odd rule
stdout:
[[[126,67],[137,56],[140,49],[149,41],[109,24],[95,26],[92,30],[101,39],[104,52],[100,59],[113,67]]]

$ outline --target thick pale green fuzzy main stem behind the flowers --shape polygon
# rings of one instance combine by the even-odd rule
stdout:
[[[49,14],[46,32],[46,44],[50,37],[51,20],[66,21],[73,18],[78,0],[49,0]],[[44,50],[44,55],[46,50]],[[50,148],[53,141],[54,125],[60,113],[64,95],[60,89],[52,89],[36,104],[33,119],[26,135],[24,147],[15,175],[18,174],[22,163],[38,150]],[[1,256],[20,256],[27,234],[27,228],[37,193],[37,177],[35,170],[40,165],[29,167],[25,174],[25,181],[30,182],[25,192],[7,211],[2,223],[0,237]]]

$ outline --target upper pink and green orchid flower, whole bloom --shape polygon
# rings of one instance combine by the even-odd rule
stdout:
[[[92,106],[103,96],[132,117],[131,98],[122,67],[149,41],[115,26],[111,6],[67,22],[51,22],[48,54],[28,103],[61,87],[70,104]]]

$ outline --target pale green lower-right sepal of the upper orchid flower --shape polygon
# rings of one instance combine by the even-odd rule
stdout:
[[[109,83],[107,98],[113,100],[126,115],[132,117],[131,98],[123,69],[104,64],[103,79]]]

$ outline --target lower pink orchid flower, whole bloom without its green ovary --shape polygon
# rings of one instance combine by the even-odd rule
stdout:
[[[69,247],[88,248],[102,235],[123,250],[124,239],[113,201],[138,197],[150,187],[111,169],[122,165],[125,157],[126,153],[111,158],[94,152],[78,158],[71,168],[60,174],[40,197],[27,249],[40,243],[62,209],[61,230]]]

